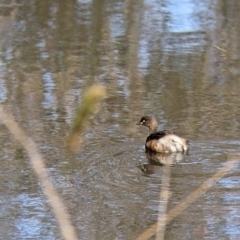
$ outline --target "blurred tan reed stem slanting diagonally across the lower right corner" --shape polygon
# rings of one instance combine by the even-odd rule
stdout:
[[[239,157],[236,159],[236,155],[228,154],[228,159],[224,167],[216,172],[212,177],[206,180],[199,188],[193,191],[188,197],[183,199],[176,207],[171,209],[166,216],[160,219],[157,223],[154,223],[148,229],[146,229],[136,240],[147,240],[154,236],[158,231],[161,231],[165,226],[177,217],[182,211],[184,211],[190,204],[195,202],[206,191],[208,191],[217,181],[219,181],[225,174],[227,174],[235,163],[239,163]]]

